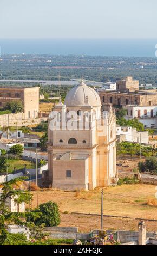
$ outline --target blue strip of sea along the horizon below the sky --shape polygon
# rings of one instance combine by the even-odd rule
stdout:
[[[155,57],[157,39],[0,39],[1,54]]]

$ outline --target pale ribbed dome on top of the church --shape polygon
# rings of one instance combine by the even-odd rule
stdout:
[[[64,104],[69,107],[84,106],[87,103],[87,99],[88,105],[93,107],[101,106],[100,97],[97,92],[82,81],[73,89],[69,90]]]

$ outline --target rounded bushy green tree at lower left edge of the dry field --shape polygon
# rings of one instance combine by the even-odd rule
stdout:
[[[35,225],[45,224],[47,227],[53,227],[60,224],[60,214],[58,205],[54,202],[40,204],[30,215],[30,221]]]

